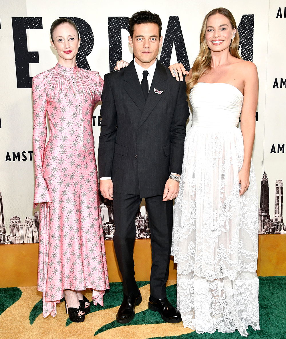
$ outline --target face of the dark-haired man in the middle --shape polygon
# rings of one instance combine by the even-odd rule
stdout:
[[[163,37],[159,37],[159,26],[156,23],[135,25],[133,37],[129,36],[129,44],[133,48],[135,61],[140,66],[148,68],[155,62],[162,41]]]

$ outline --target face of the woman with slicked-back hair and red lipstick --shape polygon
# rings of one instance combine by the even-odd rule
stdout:
[[[60,59],[72,60],[76,57],[80,46],[80,38],[78,39],[77,31],[69,23],[65,22],[53,32],[54,42],[52,46],[57,50]]]

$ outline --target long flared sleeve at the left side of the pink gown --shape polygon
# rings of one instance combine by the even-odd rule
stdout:
[[[40,202],[52,202],[43,175],[44,149],[47,137],[47,96],[46,89],[44,87],[44,79],[41,75],[33,78],[32,93],[34,109],[33,148],[35,161],[34,208],[36,208]]]

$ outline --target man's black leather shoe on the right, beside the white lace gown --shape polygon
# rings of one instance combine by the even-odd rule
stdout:
[[[180,312],[169,303],[167,298],[156,299],[150,296],[148,307],[154,312],[159,312],[166,322],[177,323],[182,321]]]

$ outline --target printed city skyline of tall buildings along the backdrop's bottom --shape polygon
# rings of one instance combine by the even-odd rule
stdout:
[[[259,181],[258,181],[259,184]],[[283,222],[283,181],[278,179],[274,184],[274,197],[269,196],[269,183],[267,174],[261,179],[259,204],[259,234],[286,234],[286,224]],[[105,199],[99,190],[102,227],[105,240],[113,240],[115,231],[113,217],[113,202]],[[269,204],[273,204],[274,213],[270,216]],[[270,205],[271,206],[271,205]],[[5,224],[5,197],[0,190],[0,244],[22,244],[39,242],[40,212],[36,211],[34,217],[10,217],[9,224]],[[138,210],[136,219],[136,239],[150,238],[148,212],[144,208]]]

